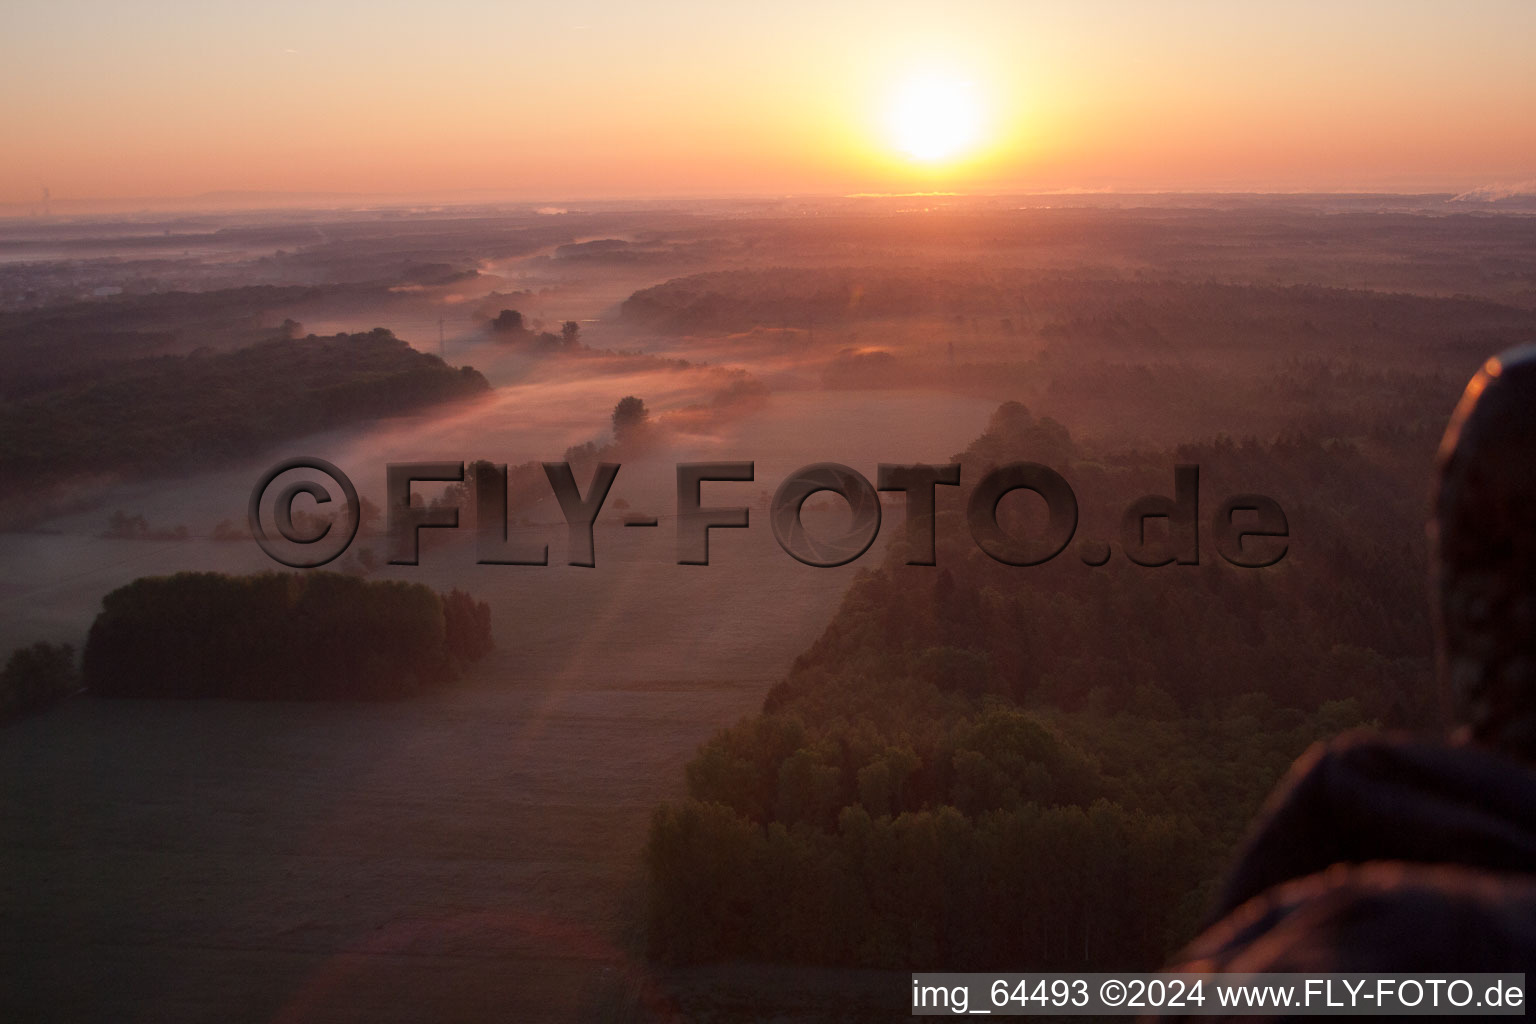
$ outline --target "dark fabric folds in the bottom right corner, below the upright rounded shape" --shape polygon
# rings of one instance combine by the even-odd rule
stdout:
[[[1170,970],[1536,975],[1536,771],[1468,746],[1318,745],[1270,797],[1217,917]]]

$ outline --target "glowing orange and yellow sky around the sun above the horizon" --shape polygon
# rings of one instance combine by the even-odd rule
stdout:
[[[1536,180],[1536,3],[11,0],[0,201]],[[963,158],[889,107],[977,98]]]

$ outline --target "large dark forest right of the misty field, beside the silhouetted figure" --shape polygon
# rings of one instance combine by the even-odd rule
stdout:
[[[699,751],[688,800],[657,811],[656,955],[1155,966],[1310,742],[1433,718],[1433,448],[1372,444],[1295,433],[1104,454],[1000,408],[957,456],[966,485],[938,488],[938,565],[905,565],[894,540],[762,714]],[[1014,461],[1063,473],[1077,537],[1114,539],[1107,565],[1075,543],[1032,568],[977,548],[969,485]],[[1120,510],[1172,494],[1177,464],[1201,473],[1201,563],[1132,565]],[[1244,491],[1287,513],[1270,568],[1210,545],[1210,514]],[[1000,517],[1026,533],[1043,511],[1011,497]]]

